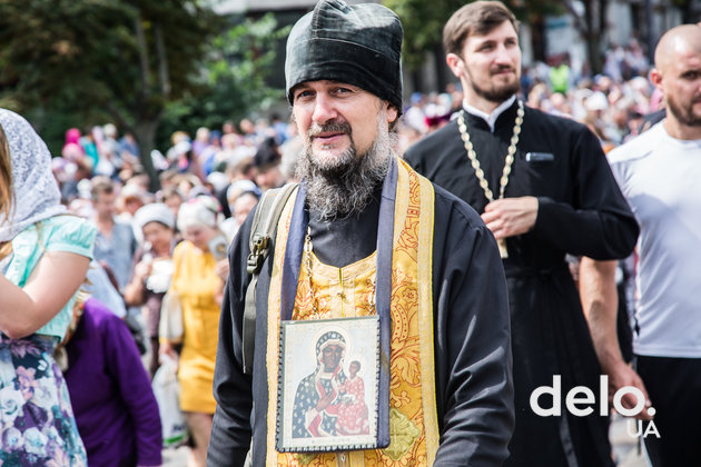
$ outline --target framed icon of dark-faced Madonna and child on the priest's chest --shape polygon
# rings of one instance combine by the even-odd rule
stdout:
[[[280,322],[278,453],[388,446],[388,437],[379,438],[383,425],[389,433],[388,404],[379,404],[379,348],[377,315]]]

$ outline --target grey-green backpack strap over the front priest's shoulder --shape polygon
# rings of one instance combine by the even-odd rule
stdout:
[[[283,209],[290,195],[297,188],[297,183],[287,183],[282,188],[268,190],[263,195],[256,212],[254,213],[250,227],[250,238],[248,245],[250,255],[246,270],[251,275],[248,288],[246,288],[246,302],[244,307],[244,335],[243,335],[243,358],[244,374],[253,374],[253,356],[256,339],[256,288],[258,286],[258,275],[263,264],[270,255],[273,240],[277,229],[277,222],[283,215]]]

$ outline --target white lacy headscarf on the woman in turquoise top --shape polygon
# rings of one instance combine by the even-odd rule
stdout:
[[[10,241],[34,222],[65,212],[51,173],[51,153],[29,122],[0,109],[0,126],[8,139],[12,163],[12,209],[0,215],[0,241]]]

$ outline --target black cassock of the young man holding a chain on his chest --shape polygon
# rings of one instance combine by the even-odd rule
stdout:
[[[465,112],[494,196],[516,109],[514,102],[497,118],[493,133],[482,118]],[[487,199],[455,120],[409,148],[405,159],[477,212],[484,211]],[[539,212],[530,232],[506,239],[516,408],[506,465],[612,466],[609,420],[599,416],[601,369],[565,254],[624,258],[635,246],[639,228],[594,135],[575,121],[530,108],[505,191],[506,198],[522,196],[537,197]],[[563,416],[540,417],[531,409],[530,397],[537,387],[552,386],[553,375],[562,376]],[[594,393],[591,416],[566,413],[564,398],[574,386]],[[543,396],[541,405],[552,407],[549,399]]]

